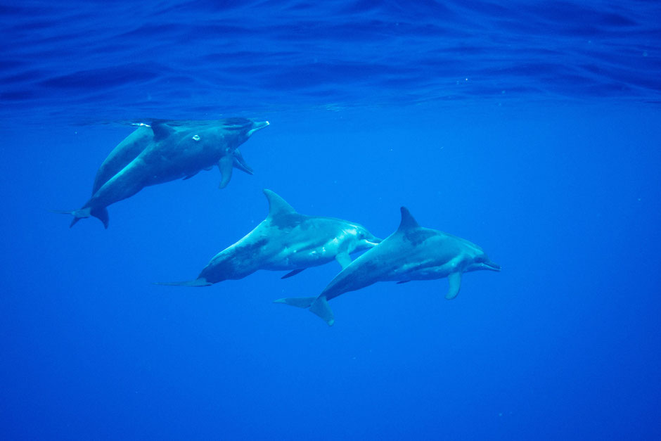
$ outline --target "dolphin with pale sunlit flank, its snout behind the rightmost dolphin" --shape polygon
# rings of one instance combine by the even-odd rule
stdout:
[[[269,215],[240,241],[215,255],[197,279],[158,285],[210,286],[224,280],[243,279],[258,269],[290,271],[295,276],[306,268],[337,260],[342,268],[350,254],[368,250],[381,239],[364,226],[333,217],[306,216],[296,212],[271,190],[264,190]]]

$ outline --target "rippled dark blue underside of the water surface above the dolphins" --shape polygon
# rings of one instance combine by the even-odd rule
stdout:
[[[25,1],[0,23],[5,117],[661,100],[652,1]]]

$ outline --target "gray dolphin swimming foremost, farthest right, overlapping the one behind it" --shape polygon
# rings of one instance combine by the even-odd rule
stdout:
[[[333,326],[333,311],[328,300],[380,281],[406,283],[412,280],[448,278],[445,298],[454,299],[461,288],[461,274],[477,269],[500,271],[479,246],[451,234],[418,225],[406,207],[402,222],[393,234],[342,269],[316,297],[283,298],[285,303],[311,312]]]

